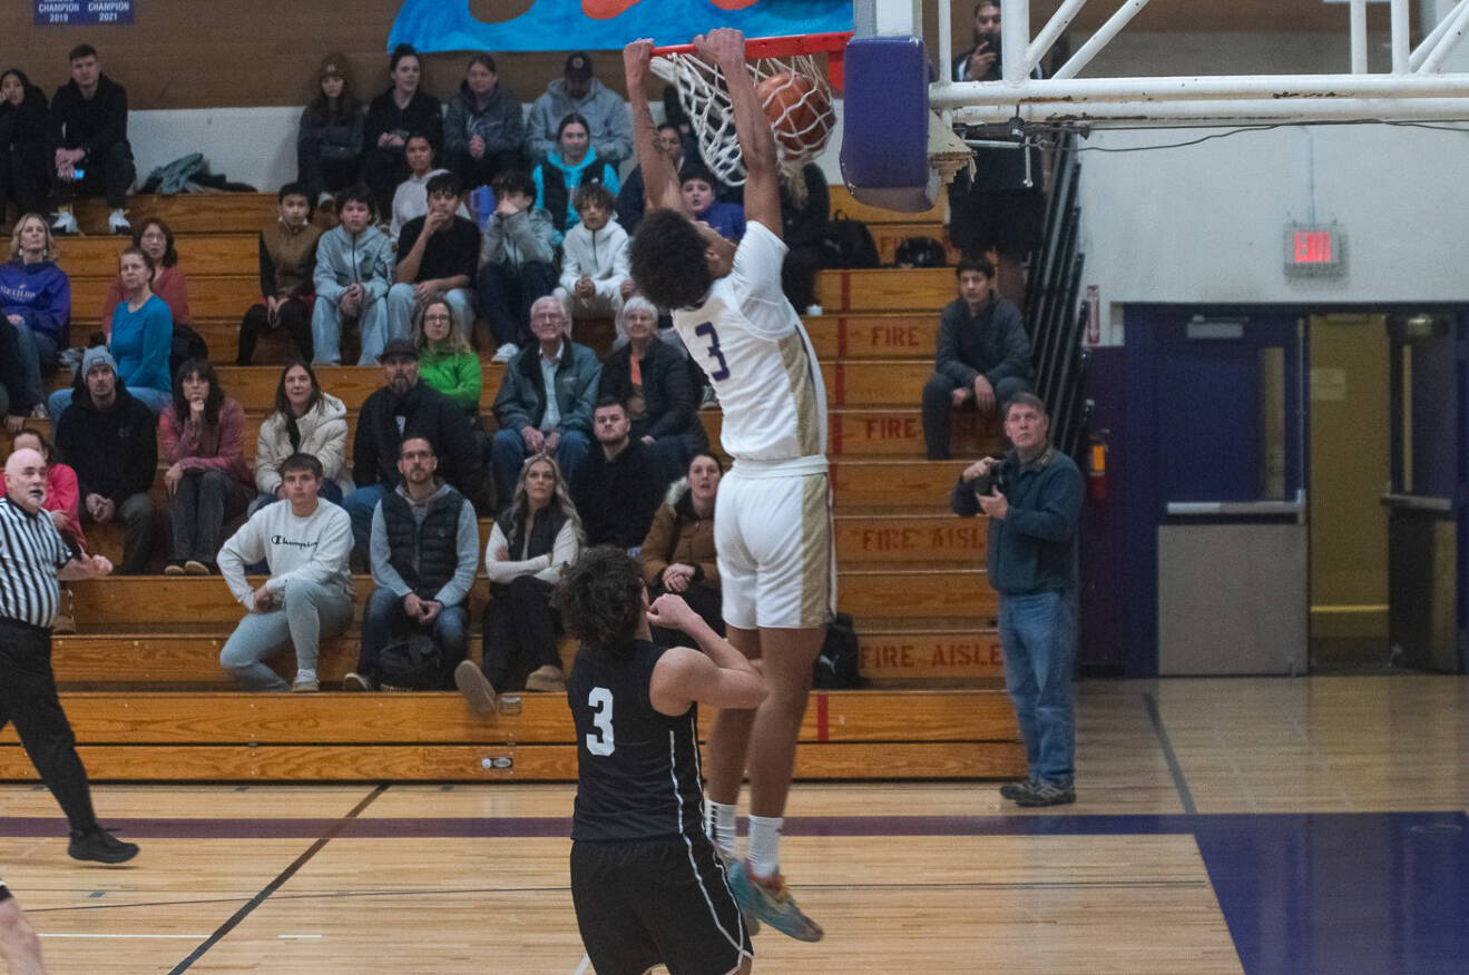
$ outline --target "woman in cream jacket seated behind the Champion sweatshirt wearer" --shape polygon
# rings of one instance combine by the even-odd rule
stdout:
[[[281,370],[275,410],[256,436],[256,496],[253,508],[285,498],[281,464],[292,454],[310,454],[322,465],[317,493],[342,502],[347,476],[347,405],[325,392],[316,371],[297,360]]]

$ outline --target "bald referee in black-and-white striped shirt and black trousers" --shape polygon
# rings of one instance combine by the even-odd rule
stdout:
[[[46,502],[46,460],[38,451],[10,454],[0,498],[0,728],[15,721],[21,743],[71,824],[68,855],[122,863],[138,855],[97,825],[76,736],[56,696],[51,621],[60,605],[57,580],[97,579],[112,571],[101,555],[84,555],[62,540]]]

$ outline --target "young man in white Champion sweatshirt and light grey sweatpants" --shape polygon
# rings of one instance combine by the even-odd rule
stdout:
[[[219,551],[219,571],[245,608],[245,618],[219,652],[220,665],[247,690],[320,690],[316,659],[322,637],[353,621],[347,512],[317,496],[322,465],[310,454],[281,464],[285,502],[257,511]],[[264,561],[270,577],[251,589],[245,567]],[[289,684],[261,661],[295,648]]]

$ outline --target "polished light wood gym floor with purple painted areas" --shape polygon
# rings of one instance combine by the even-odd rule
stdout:
[[[757,972],[1466,972],[1469,683],[1078,684],[1078,802],[798,784],[783,868],[827,931]],[[60,972],[558,972],[570,786],[98,786],[142,844],[66,858],[0,786],[0,877]]]

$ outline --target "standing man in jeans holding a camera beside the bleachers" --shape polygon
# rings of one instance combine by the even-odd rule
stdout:
[[[959,517],[989,515],[990,584],[1000,595],[1005,690],[1015,705],[1030,777],[1000,794],[1019,806],[1077,800],[1075,539],[1081,471],[1050,445],[1040,398],[1017,394],[1005,407],[1012,449],[964,468],[949,499]]]

